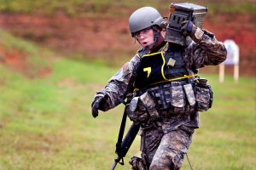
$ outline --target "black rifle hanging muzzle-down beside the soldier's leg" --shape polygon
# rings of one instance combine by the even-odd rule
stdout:
[[[111,170],[114,170],[114,168],[118,163],[121,165],[125,165],[124,157],[128,152],[128,150],[130,149],[133,140],[136,138],[139,127],[140,127],[139,125],[135,125],[134,123],[131,124],[131,127],[129,128],[128,133],[125,135],[125,139],[122,141],[121,147],[119,149],[117,147],[117,150],[115,153],[118,155],[118,158],[114,159]]]

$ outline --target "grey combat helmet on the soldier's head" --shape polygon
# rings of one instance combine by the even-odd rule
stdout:
[[[149,26],[161,26],[163,22],[163,17],[155,8],[138,8],[131,14],[129,19],[131,35],[133,36],[135,32],[141,31]]]

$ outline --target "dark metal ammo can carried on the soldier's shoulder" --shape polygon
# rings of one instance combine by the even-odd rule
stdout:
[[[166,42],[174,42],[182,46],[191,42],[190,37],[184,37],[180,31],[181,23],[184,20],[191,20],[195,26],[201,28],[207,10],[207,7],[193,3],[171,3],[170,17],[166,27]]]

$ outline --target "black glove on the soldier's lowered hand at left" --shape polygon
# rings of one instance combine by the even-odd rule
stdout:
[[[99,115],[98,110],[103,110],[104,105],[107,102],[107,96],[96,96],[91,104],[91,114],[94,118]]]

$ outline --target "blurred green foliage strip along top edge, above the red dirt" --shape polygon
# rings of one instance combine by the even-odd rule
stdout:
[[[172,3],[183,3],[184,1],[174,0]],[[77,14],[117,14],[119,8],[138,8],[147,4],[161,9],[166,9],[170,1],[166,0],[1,0],[0,10],[6,13],[26,13],[26,14],[56,14],[59,12],[68,15]],[[234,1],[234,0],[202,0],[189,1],[206,5],[211,8],[210,13],[256,13],[256,4],[253,0]]]

